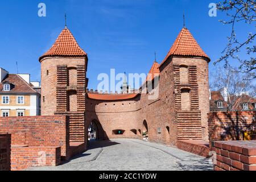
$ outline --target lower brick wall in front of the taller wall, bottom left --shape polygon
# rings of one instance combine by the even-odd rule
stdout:
[[[29,167],[58,166],[61,163],[60,147],[12,147],[11,170]]]

